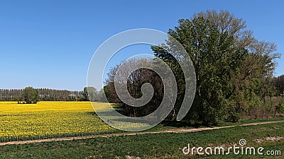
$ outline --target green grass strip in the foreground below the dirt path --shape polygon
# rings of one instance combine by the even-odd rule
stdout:
[[[183,134],[144,134],[136,136],[112,136],[108,138],[53,141],[26,145],[0,147],[0,158],[199,158],[200,155],[183,155],[182,148],[191,146],[232,146],[239,139],[246,139],[246,146],[284,153],[284,139],[267,141],[266,137],[284,137],[284,123],[236,126]],[[256,139],[261,139],[257,143]],[[264,151],[263,151],[264,152]],[[207,158],[284,158],[267,155],[212,155]]]

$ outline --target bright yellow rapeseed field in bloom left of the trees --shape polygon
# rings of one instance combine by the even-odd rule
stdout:
[[[105,103],[96,103],[104,109]],[[0,102],[0,141],[85,136],[116,131],[104,124],[89,102]]]

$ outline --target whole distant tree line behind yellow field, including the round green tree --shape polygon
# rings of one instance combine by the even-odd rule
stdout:
[[[35,101],[88,101],[89,95],[93,101],[102,101],[103,91],[97,91],[93,87],[90,89],[93,90],[91,93],[87,92],[87,87],[81,91],[49,88],[36,88],[33,90],[31,87],[25,89],[0,89],[0,101],[25,101],[28,103],[34,103]]]

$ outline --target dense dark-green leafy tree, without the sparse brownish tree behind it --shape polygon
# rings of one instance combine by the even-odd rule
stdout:
[[[226,116],[221,111],[225,103],[229,102],[228,96],[234,88],[232,76],[248,53],[245,49],[234,47],[234,39],[226,32],[219,33],[218,28],[209,23],[209,20],[197,17],[179,20],[179,23],[175,30],[169,30],[169,34],[187,49],[197,74],[197,93],[189,119],[203,124],[215,123]],[[170,43],[168,45],[171,46]],[[159,47],[152,48],[155,56],[172,61],[171,69],[178,68],[177,62],[171,60],[163,50]],[[178,77],[180,75],[176,76]],[[178,87],[184,87],[184,82],[179,83]]]

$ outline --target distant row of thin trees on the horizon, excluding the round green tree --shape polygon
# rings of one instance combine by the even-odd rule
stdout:
[[[0,88],[0,101],[24,101],[23,89],[1,89]],[[97,91],[94,87],[89,87],[91,94],[87,92],[87,87],[83,90],[60,90],[52,88],[35,88],[38,91],[40,101],[89,101],[89,95],[92,101],[106,102],[102,99],[102,90]]]

